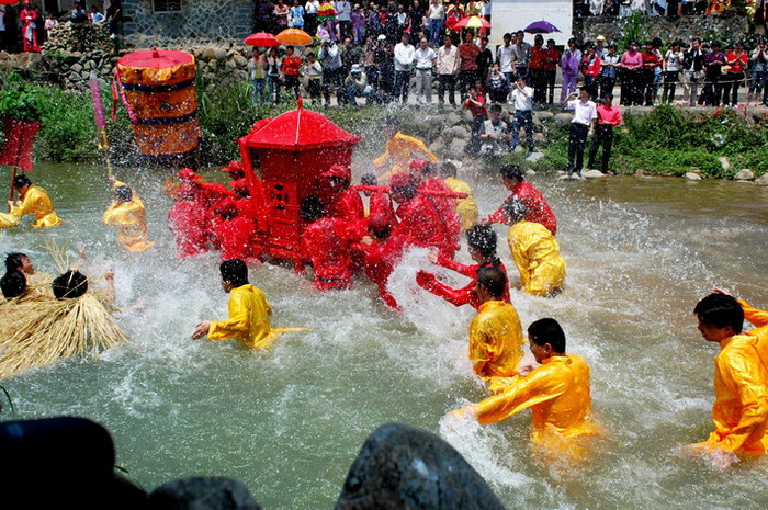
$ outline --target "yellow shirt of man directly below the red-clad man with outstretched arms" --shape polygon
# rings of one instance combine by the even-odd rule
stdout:
[[[522,359],[520,318],[512,305],[489,301],[470,324],[470,360],[481,377],[511,377]]]

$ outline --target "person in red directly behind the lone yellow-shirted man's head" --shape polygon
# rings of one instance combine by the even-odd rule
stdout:
[[[222,199],[212,207],[214,246],[221,250],[222,260],[252,257],[251,241],[256,226],[252,220],[240,216],[237,204],[231,199]]]

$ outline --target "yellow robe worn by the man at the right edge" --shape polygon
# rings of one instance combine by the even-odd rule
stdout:
[[[720,342],[714,362],[714,432],[700,446],[724,452],[765,454],[768,449],[768,352],[755,335]]]

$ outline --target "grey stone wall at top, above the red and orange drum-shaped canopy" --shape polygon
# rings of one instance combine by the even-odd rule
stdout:
[[[153,0],[124,0],[124,43],[137,47],[242,41],[253,27],[251,0],[182,0],[179,12],[154,12]]]

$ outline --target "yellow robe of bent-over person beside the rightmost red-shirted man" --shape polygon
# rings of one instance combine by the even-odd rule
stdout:
[[[527,293],[546,296],[563,285],[565,260],[560,254],[557,240],[546,227],[518,222],[509,227],[507,242]]]

